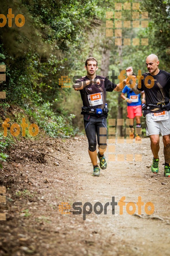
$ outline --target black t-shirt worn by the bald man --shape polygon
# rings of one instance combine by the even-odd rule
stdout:
[[[141,88],[139,84],[137,89],[144,91],[147,104],[157,104],[158,102],[169,102],[170,100],[170,74],[164,70],[159,70],[156,76],[152,76],[149,72],[144,73],[144,79],[141,80]],[[148,77],[149,76],[149,77]],[[161,111],[164,109],[161,109]],[[152,113],[147,110],[146,113]],[[160,112],[156,110],[155,112]]]

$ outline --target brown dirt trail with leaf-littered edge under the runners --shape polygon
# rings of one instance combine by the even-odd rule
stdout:
[[[80,137],[65,141],[45,139],[41,144],[29,145],[24,141],[18,145],[18,151],[11,152],[13,161],[5,165],[0,179],[0,186],[7,187],[6,204],[0,204],[7,219],[0,221],[0,255],[170,255],[170,179],[163,175],[162,142],[160,172],[155,175],[150,171],[152,154],[148,138],[142,144],[116,144],[116,154],[142,153],[142,162],[109,162],[100,177],[91,176],[87,148],[87,140]],[[19,158],[27,151],[25,157]],[[47,163],[34,163],[31,151],[48,152],[63,162],[45,155]],[[108,154],[107,151],[107,159]],[[40,156],[37,159],[42,160]],[[126,206],[123,215],[119,214],[119,206],[115,206],[112,214],[111,205],[106,215],[104,211],[100,215],[92,211],[86,220],[83,214],[72,214],[74,202],[82,202],[82,208],[85,202],[104,205],[112,201],[112,196],[115,202],[125,196],[126,205],[136,205],[141,196],[144,204],[154,204],[151,216],[162,220],[129,215]],[[61,202],[71,204],[70,214],[58,211]],[[144,206],[142,213],[145,214]]]

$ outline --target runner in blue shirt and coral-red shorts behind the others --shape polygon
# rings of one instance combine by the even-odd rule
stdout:
[[[136,74],[133,73],[132,76],[137,78]],[[135,80],[136,81],[136,80]],[[127,97],[125,97],[125,93],[127,94]],[[145,103],[145,94],[144,92],[141,92],[142,95],[142,103]],[[123,100],[127,101],[127,112],[128,117],[130,119],[136,119],[136,127],[141,128],[141,122],[140,117],[142,116],[142,106],[141,106],[141,99],[140,94],[135,94],[131,88],[129,88],[127,85],[123,88],[121,97]],[[129,125],[130,127],[130,139],[133,139],[134,136],[134,128],[133,125]],[[137,134],[135,137],[135,140],[141,140],[140,136]]]

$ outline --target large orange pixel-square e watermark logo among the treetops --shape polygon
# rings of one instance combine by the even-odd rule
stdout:
[[[130,28],[148,28],[148,12],[142,12],[140,4],[115,3],[115,11],[106,12],[106,37],[115,38],[115,45],[136,46],[149,44],[148,38],[124,38],[122,35],[122,32],[127,29],[130,30]],[[128,16],[123,17],[124,10],[129,10]]]

